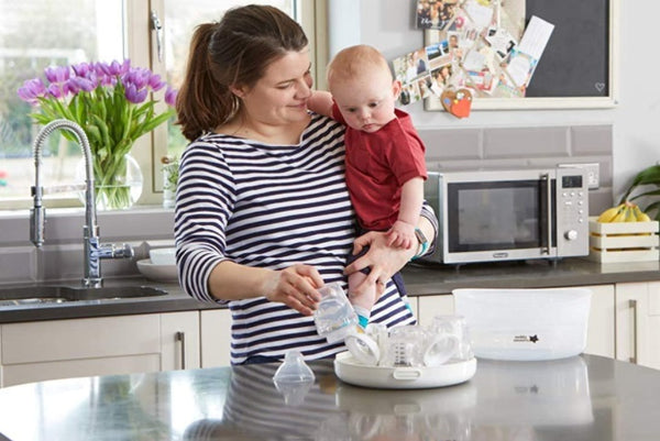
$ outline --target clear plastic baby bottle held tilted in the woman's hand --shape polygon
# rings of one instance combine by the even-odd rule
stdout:
[[[321,301],[314,313],[319,335],[334,343],[354,333],[359,323],[358,315],[341,286],[338,283],[328,284],[319,293]]]

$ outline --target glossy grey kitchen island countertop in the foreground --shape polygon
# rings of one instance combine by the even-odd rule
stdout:
[[[310,363],[316,381],[273,383],[277,364],[32,383],[0,389],[0,433],[36,440],[585,440],[660,433],[660,371],[595,355],[479,360],[469,382],[370,389]],[[0,437],[2,439],[2,437]]]

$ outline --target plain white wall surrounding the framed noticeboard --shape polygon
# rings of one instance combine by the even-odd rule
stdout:
[[[473,110],[465,120],[444,112],[426,112],[419,102],[405,110],[419,129],[613,124],[614,197],[618,199],[637,172],[660,162],[660,81],[656,78],[660,75],[660,57],[654,44],[660,2],[618,1],[615,108]],[[341,47],[364,43],[380,48],[392,60],[424,46],[424,33],[415,29],[413,0],[329,0],[329,9],[330,55]]]

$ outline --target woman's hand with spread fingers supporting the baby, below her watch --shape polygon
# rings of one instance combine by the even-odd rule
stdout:
[[[353,254],[358,254],[364,246],[369,245],[369,252],[345,267],[344,274],[353,274],[362,268],[371,267],[371,273],[364,282],[356,287],[355,294],[360,295],[370,285],[376,285],[376,296],[385,293],[385,285],[399,269],[402,269],[410,257],[416,253],[416,247],[400,249],[388,246],[388,236],[385,232],[370,231],[353,242]]]

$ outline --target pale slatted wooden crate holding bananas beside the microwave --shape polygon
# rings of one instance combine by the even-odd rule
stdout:
[[[596,222],[588,220],[590,261],[645,262],[660,257],[658,221],[650,222]]]

